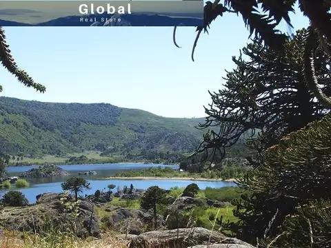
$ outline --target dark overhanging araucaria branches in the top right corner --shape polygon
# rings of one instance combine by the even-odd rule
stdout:
[[[202,31],[208,32],[210,23],[222,17],[223,14],[240,14],[245,26],[254,33],[254,40],[263,43],[280,54],[283,54],[288,36],[277,30],[277,25],[284,20],[292,28],[290,12],[294,12],[294,4],[299,3],[299,10],[310,20],[310,27],[304,39],[303,74],[305,83],[312,90],[314,96],[319,99],[325,107],[331,108],[331,97],[324,94],[317,85],[315,74],[315,53],[322,50],[331,56],[331,1],[330,0],[215,0],[214,3],[207,1],[204,8],[203,25],[197,27],[197,38],[192,49],[192,60],[194,49]],[[259,8],[260,7],[260,8]],[[224,23],[224,25],[226,25]],[[174,28],[173,39],[176,28]],[[177,45],[175,39],[174,44]],[[179,47],[177,45],[177,47]],[[215,45],[215,49],[219,49]]]

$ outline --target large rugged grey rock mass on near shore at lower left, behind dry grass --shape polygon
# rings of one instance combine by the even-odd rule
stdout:
[[[28,207],[14,207],[3,209],[0,215],[0,223],[6,229],[17,231],[43,231],[59,229],[66,231],[72,229],[74,221],[75,233],[79,237],[100,235],[100,228],[94,205],[89,200],[80,200],[78,205],[78,216],[73,217],[72,213],[63,209],[60,199],[63,194],[44,193],[37,196],[37,203]],[[74,197],[68,196],[70,201]]]

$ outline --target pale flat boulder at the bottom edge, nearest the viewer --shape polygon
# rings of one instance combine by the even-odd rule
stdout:
[[[168,247],[168,248],[205,248],[210,244],[228,245],[214,248],[254,248],[236,238],[227,238],[223,234],[203,227],[181,228],[163,231],[149,231],[140,235],[120,235],[119,238],[130,240],[129,248]],[[237,247],[236,247],[237,245]]]

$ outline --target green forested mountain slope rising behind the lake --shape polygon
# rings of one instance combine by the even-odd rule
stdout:
[[[114,149],[192,152],[203,118],[165,118],[106,103],[42,103],[0,97],[0,152],[63,155]]]

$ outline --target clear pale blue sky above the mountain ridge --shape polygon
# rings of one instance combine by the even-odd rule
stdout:
[[[291,16],[294,29],[308,19]],[[285,32],[287,26],[280,27]],[[45,94],[24,87],[0,67],[1,96],[61,103],[111,103],[146,110],[166,117],[205,116],[211,103],[208,90],[222,87],[225,70],[234,67],[232,56],[248,43],[241,17],[225,14],[201,35],[190,53],[194,27],[7,27],[6,37],[17,64],[46,85]]]

